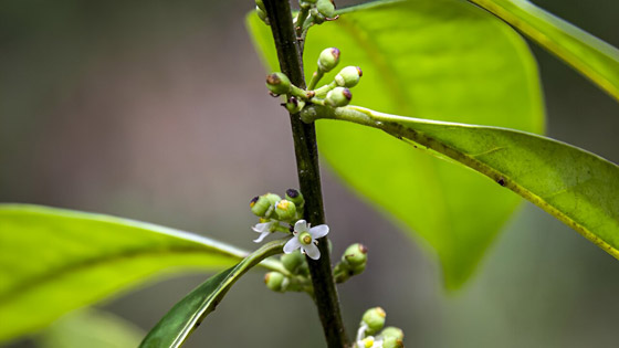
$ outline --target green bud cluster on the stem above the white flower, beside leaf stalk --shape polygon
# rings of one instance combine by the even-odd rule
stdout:
[[[292,84],[290,78],[282,73],[272,73],[266,76],[266,87],[271,95],[288,95],[287,103],[283,105],[291,113],[301,112],[307,103],[329,107],[346,106],[353,98],[349,88],[356,86],[363,76],[360,67],[353,65],[345,66],[335,75],[331,83],[315,88],[319,80],[326,73],[333,71],[338,63],[339,50],[336,48],[325,49],[318,56],[318,67],[312,75],[307,91]]]

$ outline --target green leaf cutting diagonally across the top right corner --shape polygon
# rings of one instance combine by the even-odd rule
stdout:
[[[619,101],[619,50],[526,0],[469,0],[533,39]]]

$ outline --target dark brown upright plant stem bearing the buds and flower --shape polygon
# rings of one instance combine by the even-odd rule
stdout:
[[[302,52],[302,46],[296,40],[288,0],[264,0],[264,7],[273,32],[280,67],[294,85],[305,88],[303,60],[300,53]],[[317,225],[325,222],[325,215],[316,130],[314,124],[303,123],[298,113],[291,114],[290,118],[298,183],[301,192],[303,192],[305,198],[305,219],[310,223]],[[331,255],[326,238],[319,241],[318,249],[321,250],[321,259],[314,261],[307,257],[307,263],[314,286],[315,303],[327,346],[329,348],[348,347],[348,339],[339,310],[337,289],[332,275]]]

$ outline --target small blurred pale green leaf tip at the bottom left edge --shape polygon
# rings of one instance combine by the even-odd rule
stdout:
[[[94,308],[80,309],[54,321],[36,341],[43,348],[137,347],[144,337],[134,324]]]

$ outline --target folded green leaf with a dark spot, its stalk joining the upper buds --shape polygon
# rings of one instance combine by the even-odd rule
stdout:
[[[304,110],[376,127],[457,160],[550,213],[619,259],[619,167],[534,134],[395,116],[357,106]]]

